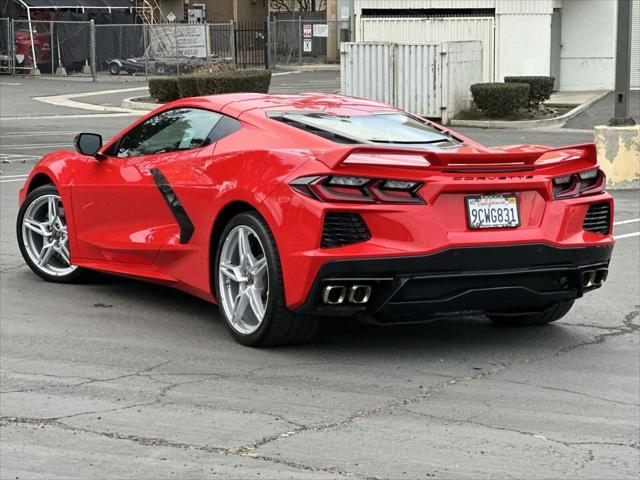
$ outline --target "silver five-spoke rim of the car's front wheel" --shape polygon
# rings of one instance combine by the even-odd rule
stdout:
[[[22,241],[35,267],[48,275],[63,277],[76,270],[71,265],[69,235],[59,195],[35,198],[22,219]]]

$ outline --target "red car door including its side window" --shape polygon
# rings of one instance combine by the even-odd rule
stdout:
[[[78,256],[151,264],[163,245],[188,241],[188,217],[163,170],[195,161],[220,117],[190,108],[162,112],[112,143],[105,160],[88,162],[72,190]]]

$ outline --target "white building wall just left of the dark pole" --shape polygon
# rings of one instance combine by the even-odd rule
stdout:
[[[615,82],[616,2],[564,0],[560,90],[608,90]]]

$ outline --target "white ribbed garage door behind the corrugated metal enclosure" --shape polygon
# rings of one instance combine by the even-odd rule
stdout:
[[[460,40],[482,42],[482,77],[494,73],[494,17],[362,18],[361,42],[440,43]]]

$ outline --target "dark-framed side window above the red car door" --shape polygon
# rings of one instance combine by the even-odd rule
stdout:
[[[105,153],[137,157],[203,147],[211,143],[209,135],[221,118],[220,113],[198,108],[167,110],[127,132]]]

